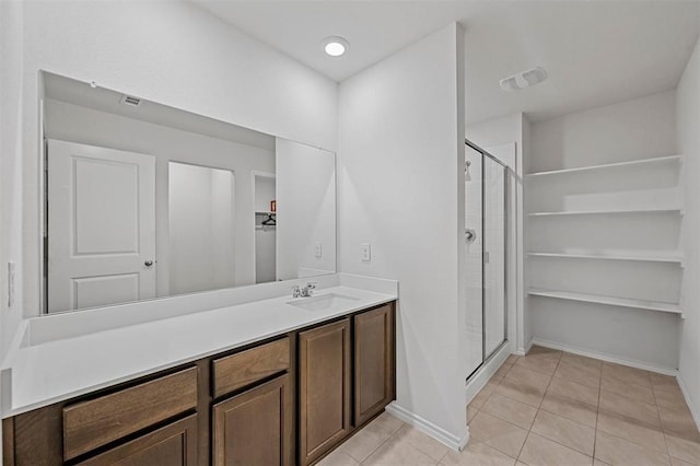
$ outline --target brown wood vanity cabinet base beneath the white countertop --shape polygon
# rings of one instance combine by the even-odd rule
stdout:
[[[395,304],[3,419],[4,466],[292,466],[395,394]]]

